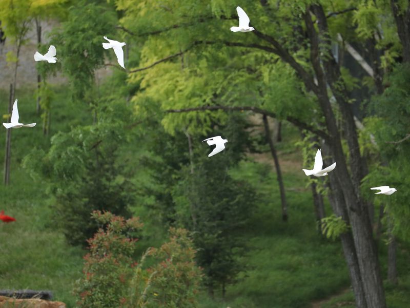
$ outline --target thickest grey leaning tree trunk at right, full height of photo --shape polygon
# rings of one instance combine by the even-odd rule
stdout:
[[[318,28],[321,29],[322,32],[321,36],[329,37],[326,18],[322,7],[313,5],[312,8],[312,11],[318,18]],[[372,225],[368,215],[367,206],[361,200],[358,189],[364,172],[359,148],[355,146],[355,144],[358,144],[355,139],[355,137],[357,138],[357,134],[355,134],[355,129],[351,129],[351,122],[353,119],[350,119],[350,117],[352,116],[353,118],[353,114],[348,112],[348,109],[345,108],[346,106],[344,101],[339,102],[343,120],[346,121],[346,138],[351,153],[350,161],[353,174],[351,177],[345,161],[335,115],[333,113],[329,97],[327,96],[326,78],[329,79],[329,83],[332,87],[332,81],[334,81],[334,78],[337,76],[338,72],[337,63],[333,59],[330,52],[329,55],[326,56],[326,59],[323,60],[323,65],[325,67],[324,71],[326,74],[324,73],[319,57],[319,36],[312,22],[310,11],[308,10],[305,14],[303,14],[303,17],[305,20],[306,30],[308,31],[311,41],[311,62],[318,81],[318,86],[317,88],[315,87],[315,94],[317,95],[318,102],[325,117],[327,130],[331,136],[329,145],[331,147],[333,157],[337,162],[337,168],[333,171],[333,173],[337,176],[339,185],[343,191],[343,197],[347,206],[347,214],[352,225],[352,234],[356,248],[356,255],[359,261],[360,275],[363,282],[367,307],[386,308],[383,280],[381,279],[380,264],[376,245],[373,239]],[[335,63],[336,66],[333,64],[330,65],[331,63]],[[332,91],[335,91],[334,94],[336,100],[343,99],[343,96],[339,95],[340,92],[338,92],[337,89],[332,88]]]

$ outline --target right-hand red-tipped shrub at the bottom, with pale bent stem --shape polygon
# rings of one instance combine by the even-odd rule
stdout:
[[[195,308],[202,277],[196,251],[185,229],[170,229],[170,240],[151,248],[134,270],[127,307]],[[146,257],[153,266],[143,268]]]

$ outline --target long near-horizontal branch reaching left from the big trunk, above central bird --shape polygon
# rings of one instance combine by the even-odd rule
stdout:
[[[200,107],[192,107],[192,108],[182,108],[182,109],[168,109],[166,110],[166,112],[168,113],[182,113],[182,112],[192,112],[192,111],[216,111],[216,110],[225,110],[225,111],[252,111],[255,113],[259,113],[259,114],[264,114],[267,115],[271,118],[277,118],[276,114],[274,112],[268,111],[268,110],[264,110],[258,107],[253,107],[253,106],[200,106]],[[317,136],[325,139],[325,140],[329,140],[330,137],[329,135],[324,132],[323,130],[317,129],[309,124],[306,124],[296,118],[293,117],[286,117],[287,121],[291,122],[292,124],[296,125],[297,127],[301,128],[301,129],[306,129],[309,130],[315,134],[317,134]]]

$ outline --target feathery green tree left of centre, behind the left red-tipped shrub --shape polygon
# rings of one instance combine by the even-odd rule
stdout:
[[[72,244],[84,244],[95,233],[97,226],[89,219],[93,210],[128,216],[133,204],[130,179],[135,170],[122,160],[121,152],[131,133],[124,127],[128,111],[122,104],[115,106],[101,105],[106,112],[100,112],[97,124],[59,132],[47,153],[36,149],[24,160],[28,169],[47,181],[55,219]],[[121,120],[114,114],[121,114]]]

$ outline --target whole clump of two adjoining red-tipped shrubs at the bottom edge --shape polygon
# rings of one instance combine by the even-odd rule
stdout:
[[[185,229],[170,229],[170,240],[160,248],[149,248],[134,261],[134,230],[138,218],[125,220],[109,212],[94,211],[102,223],[88,240],[84,277],[74,294],[81,308],[195,308],[195,295],[202,277],[194,262],[195,250]]]

